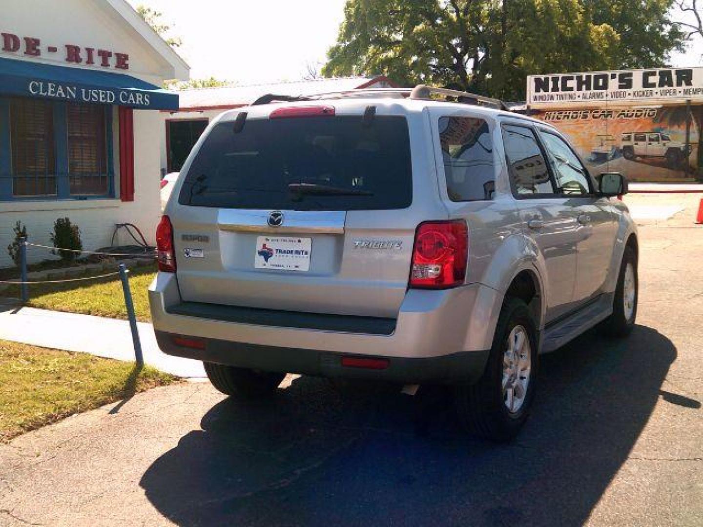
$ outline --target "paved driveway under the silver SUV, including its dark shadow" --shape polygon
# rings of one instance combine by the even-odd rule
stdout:
[[[441,389],[288,377],[240,404],[185,383],[0,445],[0,524],[702,525],[694,216],[643,221],[638,327],[543,356],[515,443],[464,436]]]

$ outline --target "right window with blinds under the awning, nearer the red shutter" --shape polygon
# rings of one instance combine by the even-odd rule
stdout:
[[[105,108],[67,105],[68,179],[71,195],[108,193]]]

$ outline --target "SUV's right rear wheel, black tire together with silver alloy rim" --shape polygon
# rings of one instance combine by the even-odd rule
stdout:
[[[506,299],[484,374],[476,384],[455,387],[458,417],[468,431],[492,441],[517,436],[534,398],[537,353],[527,304]]]

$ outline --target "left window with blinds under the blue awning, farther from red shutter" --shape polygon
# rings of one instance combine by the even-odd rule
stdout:
[[[13,195],[56,195],[53,105],[47,100],[10,100]]]

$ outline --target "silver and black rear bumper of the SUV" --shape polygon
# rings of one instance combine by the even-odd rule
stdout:
[[[442,291],[411,289],[396,320],[341,317],[357,319],[356,327],[344,327],[347,321],[340,322],[337,315],[302,314],[305,320],[296,325],[277,320],[276,312],[257,317],[243,315],[246,310],[240,308],[186,306],[176,276],[168,273],[157,275],[149,300],[165,353],[261,370],[412,382],[477,379],[491,348],[502,297],[478,284]],[[174,334],[205,339],[205,350],[176,346]],[[387,358],[389,366],[373,371],[342,369],[342,356]]]

